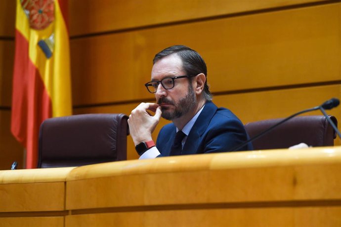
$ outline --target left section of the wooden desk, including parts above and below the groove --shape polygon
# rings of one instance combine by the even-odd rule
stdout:
[[[0,227],[64,227],[65,179],[73,168],[0,171]]]

